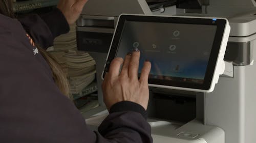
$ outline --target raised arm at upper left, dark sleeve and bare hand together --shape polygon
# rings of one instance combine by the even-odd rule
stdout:
[[[53,40],[69,32],[88,0],[60,0],[57,9],[50,13],[32,14],[18,20],[36,44],[42,48],[53,46]]]

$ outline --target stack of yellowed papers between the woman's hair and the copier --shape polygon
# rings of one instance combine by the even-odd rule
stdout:
[[[95,80],[96,63],[89,53],[77,50],[75,26],[70,25],[69,33],[57,37],[48,51],[66,72],[71,94],[82,96],[88,91],[86,87]]]

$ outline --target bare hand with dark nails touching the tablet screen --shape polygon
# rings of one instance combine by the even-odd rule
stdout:
[[[147,82],[151,63],[144,62],[138,79],[139,59],[140,52],[136,49],[132,54],[126,55],[124,62],[122,58],[116,58],[111,62],[109,72],[106,73],[102,83],[103,98],[108,109],[120,101],[132,101],[147,108],[149,98]]]

